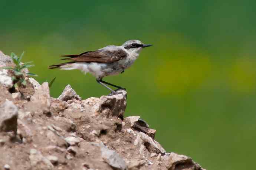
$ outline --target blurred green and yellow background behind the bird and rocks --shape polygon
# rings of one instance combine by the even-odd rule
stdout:
[[[125,116],[140,115],[167,152],[209,170],[254,169],[256,1],[1,0],[0,50],[21,54],[37,81],[55,76],[51,95],[70,84],[83,98],[109,93],[78,70],[49,70],[59,55],[138,39],[141,52],[122,75]]]

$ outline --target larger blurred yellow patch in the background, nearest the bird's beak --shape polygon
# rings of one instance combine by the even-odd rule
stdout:
[[[155,84],[163,94],[184,95],[190,89],[199,88],[210,71],[208,57],[175,58],[158,68]]]

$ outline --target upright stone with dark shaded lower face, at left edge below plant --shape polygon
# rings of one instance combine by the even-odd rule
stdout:
[[[17,118],[18,109],[17,106],[11,101],[6,101],[0,108],[0,131],[17,132]]]

